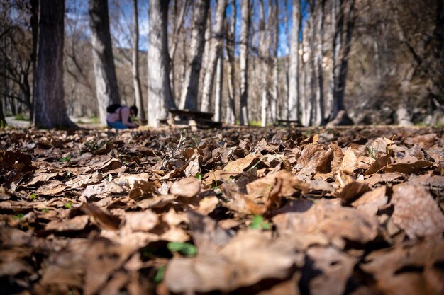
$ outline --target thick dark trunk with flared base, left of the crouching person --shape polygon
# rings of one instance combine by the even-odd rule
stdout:
[[[66,112],[63,92],[63,35],[65,1],[40,0],[35,125],[74,127]]]

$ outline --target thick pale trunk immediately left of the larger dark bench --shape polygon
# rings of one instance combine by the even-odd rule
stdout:
[[[170,0],[150,0],[148,33],[148,125],[157,127],[176,108],[170,84],[168,5]]]

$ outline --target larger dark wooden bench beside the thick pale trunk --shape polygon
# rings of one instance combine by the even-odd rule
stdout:
[[[213,121],[213,112],[199,112],[197,110],[170,109],[170,119],[167,124],[172,126],[199,128],[221,127],[221,122]]]

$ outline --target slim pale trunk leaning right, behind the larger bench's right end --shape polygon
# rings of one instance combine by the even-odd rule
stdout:
[[[216,7],[216,23],[213,29],[213,36],[209,42],[209,59],[206,63],[206,71],[204,76],[204,88],[202,88],[202,103],[201,111],[209,112],[211,104],[211,92],[213,89],[214,73],[216,66],[218,66],[218,59],[221,56],[222,42],[223,42],[223,23],[225,21],[227,1],[218,0]]]

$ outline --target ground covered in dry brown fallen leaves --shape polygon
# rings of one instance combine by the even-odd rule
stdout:
[[[0,294],[444,294],[442,129],[4,129]]]

